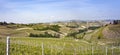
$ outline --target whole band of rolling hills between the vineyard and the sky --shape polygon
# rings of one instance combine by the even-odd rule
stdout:
[[[104,22],[56,22],[0,25],[0,37],[74,38],[89,43],[112,43],[120,39],[120,24],[102,26]],[[88,26],[88,28],[87,28]],[[32,34],[32,35],[31,35]]]

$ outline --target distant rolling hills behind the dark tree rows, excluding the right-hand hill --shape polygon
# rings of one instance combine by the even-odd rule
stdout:
[[[96,25],[91,23],[90,25]],[[97,24],[99,25],[99,24]],[[58,23],[36,23],[36,24],[5,24],[0,25],[0,37],[28,37],[30,33],[40,34],[48,32],[50,34],[60,34],[67,36],[70,33],[79,32],[85,29],[86,22],[58,22]]]

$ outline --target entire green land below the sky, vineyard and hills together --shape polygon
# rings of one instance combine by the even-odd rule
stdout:
[[[10,55],[120,55],[119,24],[82,24],[0,25],[0,55],[6,55],[6,36]]]

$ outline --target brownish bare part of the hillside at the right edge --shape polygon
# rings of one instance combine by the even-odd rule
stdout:
[[[120,42],[120,24],[107,26],[103,34],[104,37],[110,41]]]

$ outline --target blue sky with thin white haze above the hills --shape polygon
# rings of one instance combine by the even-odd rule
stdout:
[[[120,0],[0,0],[0,21],[120,19]]]

